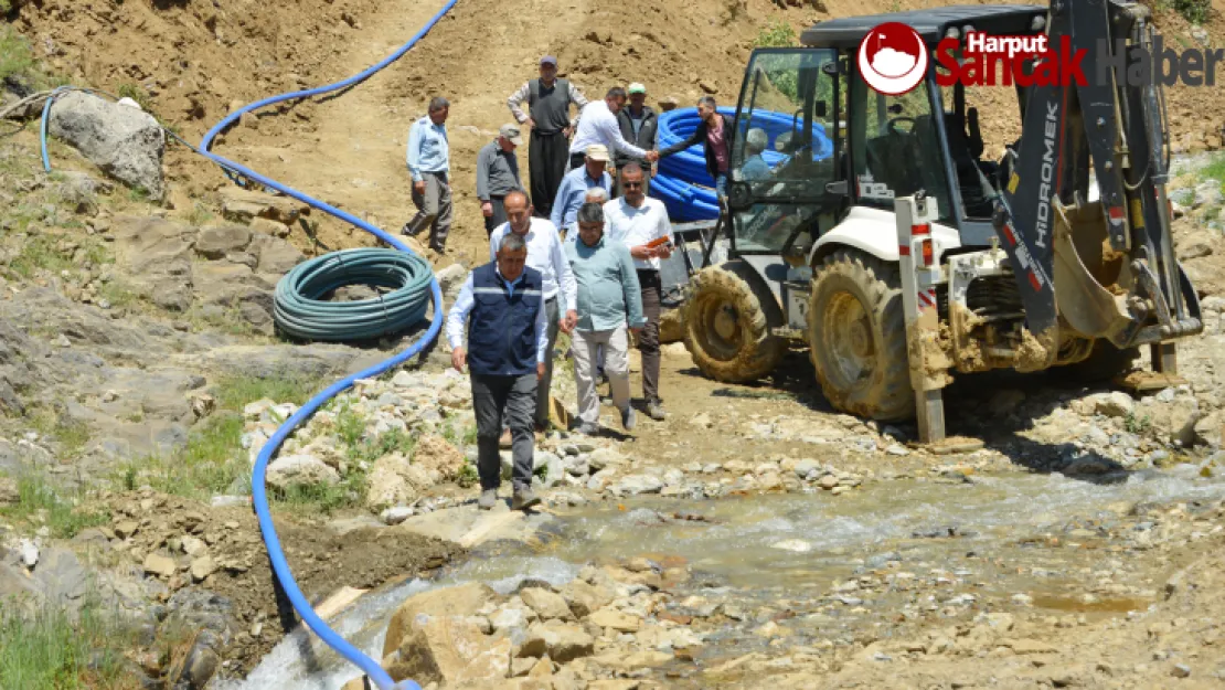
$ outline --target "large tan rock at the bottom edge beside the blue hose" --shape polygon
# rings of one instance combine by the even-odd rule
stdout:
[[[467,619],[414,619],[383,667],[394,679],[412,678],[448,688],[479,681],[505,681],[511,672],[511,641],[486,637]]]

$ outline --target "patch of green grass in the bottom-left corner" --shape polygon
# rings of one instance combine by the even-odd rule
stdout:
[[[76,615],[47,608],[23,618],[20,607],[6,603],[0,607],[0,688],[140,688],[124,659],[135,639],[96,598]]]

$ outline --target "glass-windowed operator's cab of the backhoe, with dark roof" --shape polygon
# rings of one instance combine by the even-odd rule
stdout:
[[[1046,9],[1030,5],[918,10],[832,20],[805,31],[800,48],[756,50],[736,109],[731,251],[811,265],[816,241],[853,208],[892,212],[894,199],[919,190],[936,200],[937,222],[956,232],[962,246],[989,245],[991,200],[1007,180],[1001,175],[1009,161],[985,157],[979,113],[967,109],[965,87],[940,87],[942,67],[933,59],[918,87],[886,96],[859,76],[856,54],[884,22],[913,27],[933,50],[941,39],[970,31],[1038,34],[1045,21]],[[1014,108],[1019,134],[1024,89],[991,91],[986,102]],[[1012,103],[998,104],[1000,92]]]

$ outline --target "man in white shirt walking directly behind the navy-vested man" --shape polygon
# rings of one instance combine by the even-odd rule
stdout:
[[[552,347],[557,342],[557,331],[571,332],[578,324],[578,283],[570,270],[570,261],[561,246],[561,235],[556,226],[544,218],[532,217],[532,203],[522,191],[512,191],[502,200],[508,221],[496,228],[489,237],[490,260],[497,257],[502,237],[514,233],[523,238],[528,246],[528,267],[540,272],[540,292],[549,320],[549,349],[545,358],[545,373],[537,387],[535,427],[544,431],[549,427],[549,386],[552,382]],[[559,305],[560,301],[560,305]],[[564,309],[562,309],[564,308]],[[565,317],[560,317],[565,310]]]

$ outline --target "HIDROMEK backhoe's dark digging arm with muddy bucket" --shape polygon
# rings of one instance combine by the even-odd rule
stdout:
[[[1203,330],[1196,293],[1174,257],[1160,82],[1131,85],[1114,69],[1136,50],[1152,54],[1153,37],[1143,5],[1051,1],[1055,53],[1030,74],[1060,78],[1028,87],[1019,150],[993,216],[1035,369],[1052,364],[1072,337],[1127,348]],[[1083,80],[1071,78],[1073,65]]]

